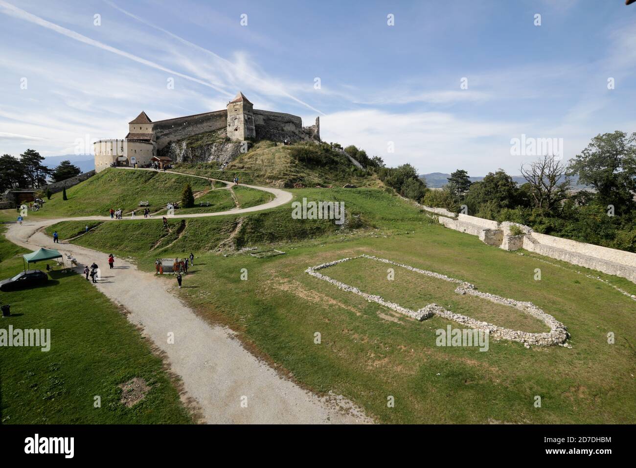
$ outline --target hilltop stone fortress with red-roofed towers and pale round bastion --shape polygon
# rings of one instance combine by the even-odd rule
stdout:
[[[151,160],[178,162],[184,159],[185,148],[181,142],[211,132],[216,132],[221,140],[233,142],[216,148],[221,155],[219,162],[229,162],[239,154],[242,141],[320,141],[320,120],[316,117],[314,125],[303,127],[302,119],[296,115],[254,109],[254,104],[242,92],[220,111],[157,122],[141,111],[128,122],[125,138],[100,139],[93,143],[95,171],[99,173],[114,164],[147,166]],[[211,155],[208,153],[207,157]]]

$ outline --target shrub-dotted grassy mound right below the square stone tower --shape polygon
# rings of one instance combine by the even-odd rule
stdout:
[[[259,141],[247,153],[233,160],[224,171],[218,164],[179,164],[177,170],[232,180],[235,175],[247,184],[270,185],[279,188],[342,187],[347,183],[357,187],[382,187],[375,174],[357,169],[347,157],[331,150],[328,145],[296,143],[282,145],[272,141]]]

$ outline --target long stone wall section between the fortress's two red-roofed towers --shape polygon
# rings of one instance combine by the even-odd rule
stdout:
[[[170,141],[176,141],[199,133],[225,129],[228,111],[214,111],[187,117],[170,118],[153,123],[156,149],[161,150]]]

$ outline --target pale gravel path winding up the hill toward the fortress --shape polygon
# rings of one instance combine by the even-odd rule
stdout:
[[[192,174],[176,174],[216,180]],[[265,190],[275,198],[250,208],[172,217],[193,218],[249,213],[275,208],[292,199],[289,192],[277,188],[252,185],[245,187]],[[134,219],[145,218],[141,216]],[[52,239],[41,232],[43,227],[66,220],[122,221],[111,220],[110,216],[79,216],[49,220],[34,220],[27,217],[22,226],[10,225],[6,237],[11,242],[31,250],[42,246],[70,253],[81,264],[76,268],[78,271],[93,261],[106,266],[106,253],[70,243],[53,244]],[[130,220],[130,217],[123,220]],[[192,277],[184,277],[184,287],[188,287],[190,281],[196,281],[196,276],[193,280],[190,278]],[[154,278],[151,273],[139,271],[134,264],[117,260],[115,269],[106,269],[95,286],[111,300],[124,306],[130,312],[128,320],[140,325],[144,334],[165,352],[171,371],[182,379],[186,396],[196,401],[204,422],[371,422],[364,416],[363,411],[344,397],[331,394],[319,397],[283,378],[272,367],[245,350],[232,330],[210,325],[197,316],[173,294],[176,285],[169,285],[167,281]],[[169,343],[170,334],[174,336],[174,343]]]

